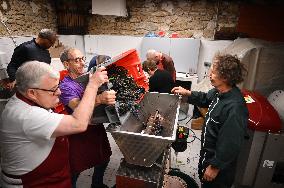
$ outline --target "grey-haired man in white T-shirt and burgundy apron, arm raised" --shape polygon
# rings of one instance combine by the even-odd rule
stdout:
[[[53,113],[59,102],[59,74],[50,65],[26,62],[17,73],[17,92],[1,116],[3,187],[71,187],[66,135],[84,132],[95,107],[98,88],[108,82],[104,67],[89,76],[72,115]]]

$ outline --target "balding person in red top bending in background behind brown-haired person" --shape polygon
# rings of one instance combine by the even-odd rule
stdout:
[[[170,56],[162,52],[150,49],[147,51],[146,57],[147,60],[155,61],[157,63],[158,69],[168,71],[172,75],[174,82],[176,81],[176,69],[174,66],[174,61]]]

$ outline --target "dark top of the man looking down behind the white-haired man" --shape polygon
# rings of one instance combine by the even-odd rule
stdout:
[[[24,62],[32,60],[51,63],[49,51],[36,44],[35,39],[24,42],[14,49],[11,61],[7,67],[10,81],[15,80],[16,71]]]

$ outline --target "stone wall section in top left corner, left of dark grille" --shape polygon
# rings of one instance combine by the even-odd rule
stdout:
[[[56,30],[56,14],[49,0],[0,0],[0,21],[13,36],[36,35],[42,28]],[[9,36],[0,23],[0,36]]]

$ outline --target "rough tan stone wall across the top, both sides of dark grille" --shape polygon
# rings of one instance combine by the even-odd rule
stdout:
[[[12,35],[35,35],[41,28],[56,30],[50,0],[0,0],[0,18]],[[148,32],[177,32],[180,37],[214,38],[219,30],[234,31],[239,4],[206,0],[127,0],[128,17],[91,15],[88,34],[144,36]],[[0,24],[0,36],[8,36]]]

